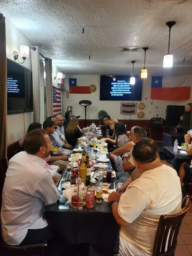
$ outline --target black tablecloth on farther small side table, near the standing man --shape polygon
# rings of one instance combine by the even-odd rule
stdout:
[[[183,143],[184,140],[184,135],[183,134],[178,134],[178,133],[165,133],[163,132],[163,139],[162,139],[162,145],[167,146],[167,147],[172,147],[174,146],[175,140],[178,141],[178,145],[181,146],[181,143]]]

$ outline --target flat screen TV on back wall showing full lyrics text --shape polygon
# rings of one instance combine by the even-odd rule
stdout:
[[[141,100],[143,81],[135,76],[135,84],[130,84],[130,76],[100,76],[100,100]]]

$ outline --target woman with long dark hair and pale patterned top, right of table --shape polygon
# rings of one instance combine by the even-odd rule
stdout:
[[[111,128],[111,125],[110,125],[110,128]],[[122,123],[119,123],[118,121],[115,122],[115,124],[114,124],[113,136],[114,136],[114,139],[105,138],[104,140],[109,141],[110,143],[116,144],[117,148],[121,148],[125,144],[128,143],[128,137],[127,137],[127,134],[126,134],[125,125],[122,124]]]

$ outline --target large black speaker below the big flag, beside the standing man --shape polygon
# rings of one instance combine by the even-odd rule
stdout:
[[[166,108],[166,125],[177,126],[180,120],[180,116],[183,115],[185,106],[168,105]]]

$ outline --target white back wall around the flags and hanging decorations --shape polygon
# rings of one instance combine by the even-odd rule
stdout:
[[[76,78],[78,86],[89,86],[95,84],[97,90],[91,94],[70,94],[69,99],[65,99],[65,109],[67,106],[73,105],[73,113],[81,116],[84,119],[84,107],[79,105],[79,101],[88,99],[92,102],[92,105],[87,107],[87,119],[98,119],[98,113],[100,110],[105,110],[112,119],[130,119],[128,115],[120,114],[120,101],[100,101],[100,76],[88,76],[88,75],[67,75],[65,77],[65,87],[69,89],[69,78]],[[143,93],[142,101],[145,103],[145,109],[143,112],[145,116],[143,119],[151,119],[156,114],[159,117],[165,118],[167,105],[186,105],[188,102],[192,102],[192,90],[191,97],[188,101],[167,101],[167,100],[151,100],[151,77],[143,80]],[[125,101],[124,101],[125,102]],[[138,102],[140,103],[140,102]],[[152,103],[152,105],[151,105]],[[157,107],[157,108],[156,108]],[[137,108],[137,113],[140,110]],[[131,119],[138,119],[137,114],[131,115]]]

